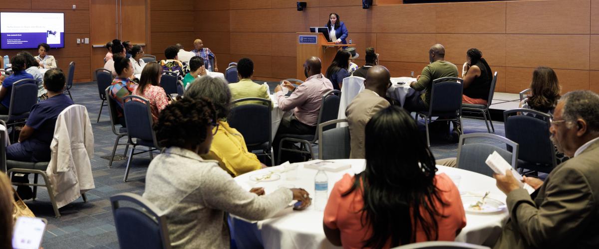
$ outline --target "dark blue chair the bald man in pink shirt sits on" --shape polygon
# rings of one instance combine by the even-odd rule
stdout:
[[[320,105],[320,111],[318,113],[318,121],[317,124],[321,124],[326,121],[333,120],[337,118],[337,113],[339,111],[339,102],[341,99],[341,91],[339,90],[331,90],[325,95],[322,96],[322,104]],[[328,125],[323,127],[323,131],[334,128],[335,125]],[[281,150],[289,151],[289,152],[297,152],[302,154],[310,155],[310,158],[314,158],[314,152],[312,151],[312,144],[316,143],[318,140],[318,129],[312,134],[307,135],[298,135],[298,134],[281,134],[281,140],[279,142],[279,158],[277,158],[277,162],[280,163],[281,160]],[[300,143],[300,149],[290,149],[283,148],[283,143],[292,142],[292,143]]]

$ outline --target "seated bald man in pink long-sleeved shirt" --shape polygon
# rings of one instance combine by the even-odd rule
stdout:
[[[273,148],[275,158],[278,158],[279,143],[283,134],[306,135],[316,133],[318,114],[320,112],[320,106],[322,105],[322,96],[333,90],[331,81],[320,73],[321,67],[322,63],[318,57],[310,57],[304,63],[304,75],[307,79],[305,79],[303,84],[294,87],[291,82],[283,81],[283,87],[293,91],[289,97],[285,97],[281,85],[277,85],[277,87],[274,88],[274,95],[279,104],[279,108],[283,110],[283,112],[294,110],[293,115],[289,118],[284,118],[281,121],[279,130],[277,130],[277,134],[274,137]],[[347,73],[347,70],[345,70],[344,67],[341,67],[341,69]],[[283,147],[291,146],[291,143],[283,145]],[[287,161],[287,154],[288,153],[283,152],[283,155],[281,155],[282,162]]]

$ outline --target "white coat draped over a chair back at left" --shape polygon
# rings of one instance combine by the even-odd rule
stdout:
[[[93,131],[85,106],[73,104],[60,112],[50,150],[52,156],[46,174],[60,208],[95,187],[90,162]]]

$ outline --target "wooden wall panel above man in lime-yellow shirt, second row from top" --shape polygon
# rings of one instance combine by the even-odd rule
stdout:
[[[271,32],[271,13],[270,9],[231,10],[231,32]]]

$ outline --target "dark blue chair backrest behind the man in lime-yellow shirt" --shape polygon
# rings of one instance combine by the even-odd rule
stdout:
[[[267,99],[244,98],[235,100],[232,104],[247,101],[253,103],[240,104],[231,108],[227,122],[243,135],[247,146],[261,145],[268,142],[268,148],[270,148],[273,126],[270,110],[272,103]]]

